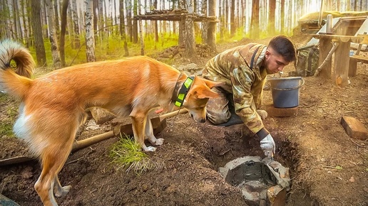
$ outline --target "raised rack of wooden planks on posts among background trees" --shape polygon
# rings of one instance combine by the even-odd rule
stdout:
[[[134,16],[138,21],[179,21],[179,30],[183,32],[183,45],[185,46],[185,55],[193,57],[195,55],[195,36],[194,22],[218,23],[216,16],[205,16],[201,13],[190,13],[186,9],[153,10],[145,14]],[[140,24],[141,25],[141,24]],[[142,33],[142,29],[140,29]],[[140,34],[140,36],[143,36]],[[179,36],[180,38],[180,36]],[[180,39],[179,39],[180,42]],[[143,48],[143,42],[141,41]]]

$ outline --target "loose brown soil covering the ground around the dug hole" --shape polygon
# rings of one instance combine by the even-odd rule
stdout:
[[[310,36],[293,36],[299,47]],[[269,39],[257,40],[267,44]],[[235,45],[218,45],[218,52]],[[215,55],[200,50],[198,58],[174,57],[175,66],[196,63],[203,67]],[[294,70],[285,68],[285,74]],[[276,161],[290,168],[292,187],[287,205],[368,205],[368,143],[350,138],[340,124],[342,116],[353,116],[368,128],[368,65],[359,65],[351,84],[341,88],[324,77],[305,77],[300,89],[297,116],[272,117],[264,124],[277,145]],[[286,75],[285,75],[286,76]],[[10,100],[1,105],[1,121],[18,107]],[[270,90],[264,92],[265,108],[272,104]],[[9,109],[10,108],[10,109]],[[218,168],[242,156],[262,156],[259,140],[243,126],[200,124],[188,114],[167,119],[157,136],[163,146],[149,153],[162,167],[140,175],[117,169],[108,153],[118,141],[114,137],[71,153],[59,173],[62,185],[72,185],[59,205],[246,205],[238,188],[226,183]],[[108,131],[83,131],[86,138]],[[26,153],[18,139],[1,135],[0,158]],[[20,205],[41,205],[34,190],[40,175],[36,161],[0,168],[0,193]]]

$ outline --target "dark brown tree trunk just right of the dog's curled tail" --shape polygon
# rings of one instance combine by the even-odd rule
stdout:
[[[39,67],[46,67],[46,52],[44,37],[42,36],[41,2],[39,0],[31,0],[31,19],[37,65]]]

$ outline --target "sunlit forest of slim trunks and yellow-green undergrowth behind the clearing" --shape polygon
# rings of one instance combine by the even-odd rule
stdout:
[[[215,42],[292,36],[297,20],[318,11],[367,11],[365,0],[1,0],[0,38],[26,45],[39,67],[61,68],[180,44],[178,21],[135,18],[156,11],[215,16]],[[166,14],[163,13],[163,16]],[[164,18],[163,18],[164,19]],[[193,23],[208,43],[208,22]],[[140,35],[139,35],[140,34]],[[215,49],[214,49],[215,50]]]

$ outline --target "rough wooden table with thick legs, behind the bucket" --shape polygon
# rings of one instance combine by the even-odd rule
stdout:
[[[334,67],[332,70],[332,61],[327,61],[321,68],[320,75],[332,78],[339,87],[346,87],[349,85],[349,51],[350,43],[359,43],[363,40],[357,36],[342,36],[332,34],[315,34],[314,38],[320,39],[320,62],[322,65],[329,53],[334,53]],[[332,54],[330,54],[331,56]]]

